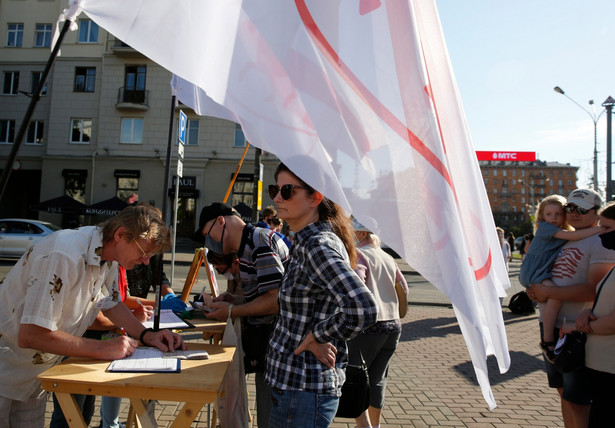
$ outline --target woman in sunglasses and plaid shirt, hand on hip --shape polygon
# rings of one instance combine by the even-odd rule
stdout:
[[[351,267],[357,256],[350,219],[284,164],[275,178],[269,195],[295,240],[267,353],[270,426],[327,427],[345,380],[346,340],[375,323],[378,309]]]

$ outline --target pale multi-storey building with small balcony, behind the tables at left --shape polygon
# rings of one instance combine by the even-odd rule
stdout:
[[[50,55],[55,22],[68,0],[0,2],[0,168]],[[174,201],[176,135],[171,179],[164,187],[171,111],[188,115],[180,179],[178,236],[189,236],[201,207],[222,200],[246,147],[239,125],[173,109],[171,73],[99,28],[85,14],[69,31],[12,165],[0,203],[2,217],[41,218],[69,226],[102,220],[32,211],[39,201],[69,195],[87,205],[117,196],[162,207]],[[177,124],[175,123],[175,129]],[[229,203],[252,206],[255,149],[250,148]],[[263,182],[277,158],[262,156]],[[263,195],[263,204],[271,203]],[[170,218],[170,217],[169,217]]]

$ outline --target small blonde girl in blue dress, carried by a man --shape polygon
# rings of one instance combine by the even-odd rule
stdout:
[[[564,204],[566,199],[560,195],[551,195],[540,201],[536,210],[534,239],[530,245],[519,273],[519,282],[524,287],[542,283],[554,285],[551,281],[551,267],[560,248],[566,241],[578,241],[600,233],[600,227],[572,230],[566,221]],[[543,337],[540,342],[545,357],[553,362],[555,347],[555,322],[561,301],[549,299],[542,311]]]

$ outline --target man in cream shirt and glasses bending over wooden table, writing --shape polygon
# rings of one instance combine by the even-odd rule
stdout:
[[[147,264],[169,237],[160,211],[138,205],[102,226],[55,232],[23,255],[0,283],[0,420],[10,428],[44,425],[47,394],[36,376],[63,355],[124,358],[134,338],[162,351],[185,349],[179,335],[145,329],[118,291],[118,264]],[[101,310],[130,337],[81,337]]]

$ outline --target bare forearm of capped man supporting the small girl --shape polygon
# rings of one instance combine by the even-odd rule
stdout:
[[[594,263],[589,267],[587,282],[566,287],[532,284],[531,291],[538,302],[547,299],[566,302],[591,302],[596,297],[596,285],[613,267],[612,263]]]

